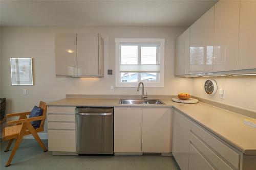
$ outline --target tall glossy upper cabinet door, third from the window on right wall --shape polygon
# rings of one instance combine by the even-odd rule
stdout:
[[[239,10],[240,1],[215,5],[214,71],[238,69]]]

